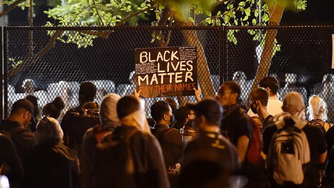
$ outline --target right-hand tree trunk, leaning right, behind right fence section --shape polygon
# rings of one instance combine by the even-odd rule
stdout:
[[[272,9],[272,13],[270,15],[269,25],[280,25],[281,18],[284,12],[285,5],[281,4],[281,2],[277,1],[275,6]],[[268,71],[271,64],[271,59],[273,57],[275,38],[276,38],[277,30],[276,29],[268,29],[265,37],[265,45],[263,48],[263,52],[261,54],[261,61],[257,67],[256,75],[254,78],[254,82],[251,88],[251,91],[257,87],[257,83],[267,77]]]

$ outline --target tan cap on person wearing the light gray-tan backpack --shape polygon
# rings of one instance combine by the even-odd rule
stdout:
[[[305,108],[304,99],[299,92],[289,92],[283,99],[283,110],[294,114]]]

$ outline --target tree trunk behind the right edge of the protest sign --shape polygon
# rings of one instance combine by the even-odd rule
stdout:
[[[190,20],[181,21],[178,16],[175,16],[175,21],[178,26],[193,25]],[[215,90],[210,76],[210,70],[205,57],[204,49],[200,43],[196,31],[181,30],[185,43],[189,46],[197,47],[197,79],[204,98],[214,97]]]

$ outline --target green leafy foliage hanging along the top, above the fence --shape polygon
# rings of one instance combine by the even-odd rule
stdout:
[[[285,0],[283,0],[285,1]],[[297,11],[305,10],[307,2],[305,0],[286,0],[291,2],[292,6]],[[10,5],[15,0],[2,1],[0,4]],[[161,18],[162,12],[165,8],[165,3],[173,7],[182,17],[189,18],[194,25],[210,25],[210,26],[250,26],[268,25],[270,20],[270,13],[268,5],[261,4],[262,0],[242,0],[236,2],[234,0],[48,0],[48,5],[53,5],[54,8],[44,11],[48,17],[52,17],[57,26],[64,26],[66,24],[108,24],[115,26],[122,18],[133,14],[137,11],[146,10],[147,8],[154,8],[156,21],[151,23],[156,26]],[[267,1],[275,3],[275,0]],[[212,7],[225,4],[224,9],[214,13]],[[257,7],[255,8],[257,4]],[[18,6],[29,7],[29,1],[26,1]],[[144,11],[144,14],[134,16],[130,22],[136,22],[138,17],[145,18],[150,12]],[[166,24],[174,23],[172,17],[168,18]],[[53,26],[47,23],[47,26]],[[237,38],[235,34],[238,30],[229,30],[228,40],[235,45]],[[264,43],[264,32],[259,30],[249,30],[254,41]],[[52,31],[48,32],[49,35]],[[75,43],[78,47],[87,47],[92,45],[92,40],[97,36],[76,31],[63,32],[57,39],[63,43]],[[152,40],[161,40],[162,33],[153,32]],[[274,52],[280,49],[280,46],[275,40]]]

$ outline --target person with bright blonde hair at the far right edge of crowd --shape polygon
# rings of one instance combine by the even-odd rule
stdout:
[[[311,125],[318,125],[327,132],[330,124],[327,121],[327,105],[326,102],[319,96],[313,95],[308,100],[307,107],[308,120]]]

